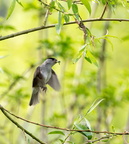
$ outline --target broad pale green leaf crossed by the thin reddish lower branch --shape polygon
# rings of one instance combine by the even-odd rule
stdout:
[[[91,130],[90,127],[90,123],[86,118],[83,118],[79,123],[75,122],[74,126],[78,129],[78,130]],[[79,132],[81,134],[83,134],[84,136],[86,136],[88,138],[88,140],[90,140],[93,136],[92,132]]]

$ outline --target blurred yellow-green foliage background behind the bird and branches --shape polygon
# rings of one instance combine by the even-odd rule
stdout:
[[[64,1],[59,1],[66,9]],[[128,7],[117,1],[107,10],[104,17],[129,18]],[[25,29],[43,25],[47,8],[37,0],[22,0],[12,15],[6,19],[11,5],[9,0],[0,0],[0,35],[8,35]],[[90,2],[93,17],[99,17],[104,5]],[[124,2],[123,2],[124,4]],[[91,18],[83,5],[78,5],[82,19]],[[110,11],[110,12],[109,12]],[[71,17],[70,21],[74,19]],[[53,10],[47,25],[58,23],[58,12]],[[105,34],[107,22],[85,23],[96,38]],[[84,44],[83,32],[77,24],[63,26],[57,34],[55,28],[40,30],[0,41],[0,105],[12,113],[27,120],[51,126],[72,128],[80,116],[84,116],[96,99],[104,100],[86,118],[92,130],[124,132],[129,130],[129,23],[109,22],[106,29],[109,38],[105,42],[104,61],[100,59],[104,39],[96,42],[89,49],[93,52],[98,66],[90,64],[83,57],[76,63],[79,49]],[[113,45],[113,46],[112,46]],[[55,92],[48,86],[45,96],[34,107],[29,107],[32,93],[32,78],[35,68],[48,56],[61,61],[55,65],[61,91]],[[15,118],[14,118],[15,119]],[[24,128],[40,140],[50,143],[61,143],[65,136],[48,134],[54,129],[46,129],[15,119]],[[93,134],[93,140],[101,135]],[[105,143],[122,144],[128,141],[127,136],[117,136]],[[79,144],[87,138],[74,133],[68,139]],[[0,144],[36,144],[37,142],[14,126],[0,113]],[[68,143],[68,142],[66,142]],[[100,142],[102,143],[102,142]]]

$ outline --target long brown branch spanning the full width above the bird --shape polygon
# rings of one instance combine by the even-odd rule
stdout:
[[[118,22],[125,21],[125,22],[129,22],[129,19],[93,18],[93,19],[82,20],[82,22],[95,22],[95,21],[118,21]],[[63,25],[71,25],[71,24],[76,24],[76,21],[64,23]],[[52,24],[52,25],[49,25],[49,26],[40,26],[40,27],[31,28],[31,29],[20,31],[20,32],[12,33],[10,35],[1,36],[0,41],[5,40],[5,39],[10,39],[10,38],[13,38],[13,37],[17,37],[17,36],[20,36],[20,35],[28,34],[28,33],[31,33],[31,32],[35,32],[35,31],[38,31],[38,30],[53,28],[53,27],[55,27],[55,25],[56,24]]]

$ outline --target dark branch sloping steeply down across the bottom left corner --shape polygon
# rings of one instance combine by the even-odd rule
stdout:
[[[2,111],[2,113],[12,122],[14,123],[18,128],[20,128],[22,131],[24,131],[26,134],[28,134],[30,137],[32,137],[33,139],[35,139],[37,142],[39,142],[40,144],[45,144],[44,142],[40,141],[37,137],[35,137],[34,135],[32,135],[29,131],[27,131],[26,129],[24,129],[21,125],[19,125],[16,121],[14,121],[6,112],[6,110],[0,105],[0,110]]]

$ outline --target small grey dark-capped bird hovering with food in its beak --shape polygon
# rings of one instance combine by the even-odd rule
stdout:
[[[36,68],[32,83],[33,92],[29,103],[30,106],[39,103],[39,92],[40,90],[46,92],[47,84],[56,91],[60,90],[61,86],[59,80],[56,73],[52,69],[52,66],[56,63],[60,63],[60,61],[56,60],[55,58],[48,58]]]

